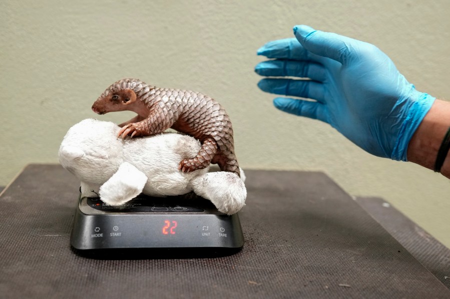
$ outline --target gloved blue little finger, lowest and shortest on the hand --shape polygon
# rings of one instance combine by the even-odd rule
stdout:
[[[305,116],[312,119],[318,119],[323,122],[328,123],[326,107],[324,104],[313,101],[305,101],[290,98],[275,98],[273,100],[273,105],[280,109],[281,111]]]

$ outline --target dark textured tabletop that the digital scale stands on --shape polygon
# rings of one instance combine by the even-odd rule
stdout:
[[[245,244],[219,258],[89,259],[69,244],[79,182],[29,165],[0,196],[2,298],[450,298],[330,178],[246,171]]]

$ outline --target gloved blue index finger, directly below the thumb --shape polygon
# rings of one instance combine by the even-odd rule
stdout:
[[[295,38],[272,40],[260,47],[258,55],[267,58],[320,61],[323,57],[307,51]]]

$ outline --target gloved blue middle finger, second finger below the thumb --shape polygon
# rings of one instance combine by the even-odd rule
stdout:
[[[326,69],[322,64],[297,60],[269,60],[256,65],[255,72],[270,77],[301,77],[324,81]]]

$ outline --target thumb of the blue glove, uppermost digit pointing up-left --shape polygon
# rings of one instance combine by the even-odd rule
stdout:
[[[297,25],[293,29],[295,37],[306,50],[342,64],[363,43],[336,33],[314,30],[306,25]]]

